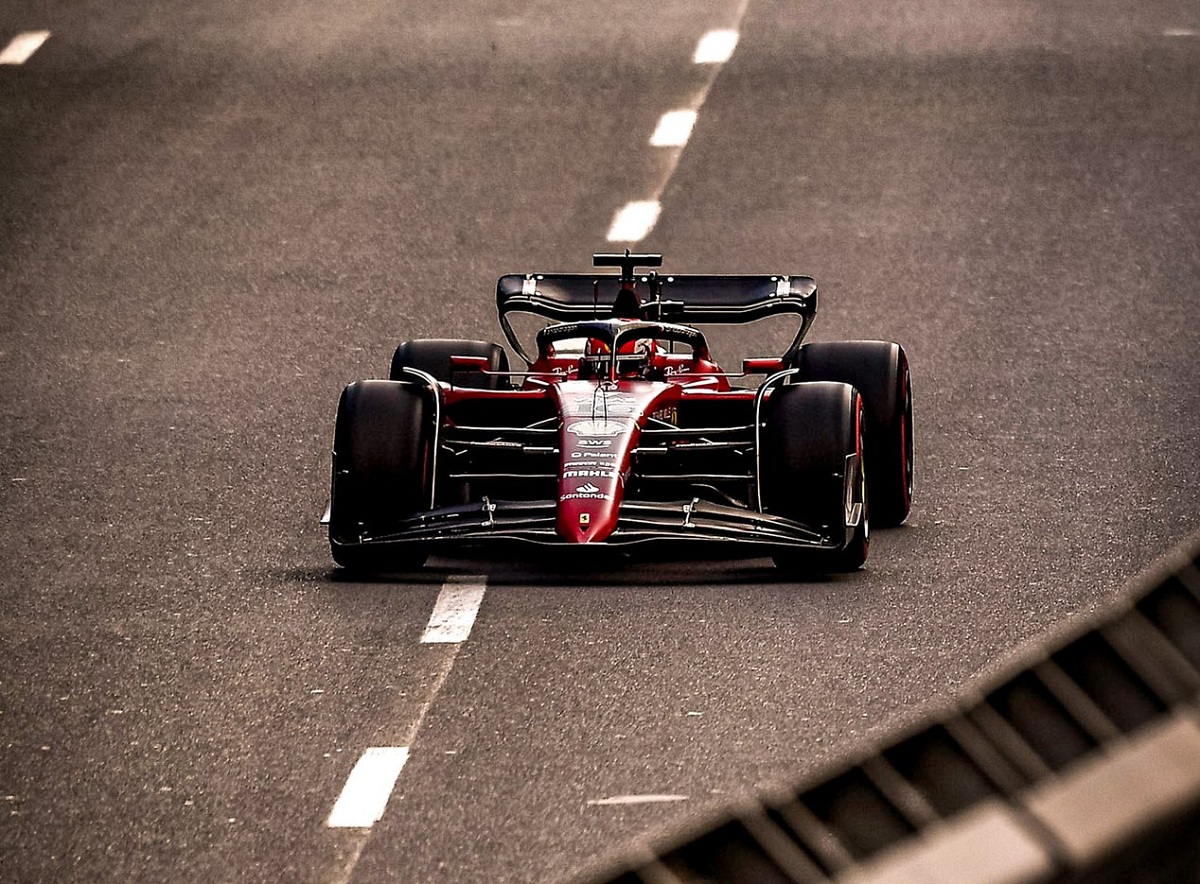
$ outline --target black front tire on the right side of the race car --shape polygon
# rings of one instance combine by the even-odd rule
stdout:
[[[856,571],[866,560],[870,522],[863,473],[865,410],[850,384],[792,384],[770,395],[762,428],[762,503],[814,530],[845,536],[835,552],[775,555],[785,571]],[[847,483],[846,470],[852,470]],[[848,489],[848,499],[847,499]],[[858,523],[847,525],[847,510]]]

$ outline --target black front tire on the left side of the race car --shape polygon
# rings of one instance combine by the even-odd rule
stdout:
[[[407,570],[420,549],[360,546],[430,507],[432,426],[428,399],[408,384],[360,380],[342,391],[334,429],[329,541],[334,560],[358,570]]]

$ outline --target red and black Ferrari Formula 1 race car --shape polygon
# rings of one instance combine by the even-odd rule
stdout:
[[[347,386],[334,559],[389,571],[533,547],[860,567],[868,512],[895,525],[912,500],[904,349],[804,344],[810,277],[638,272],[661,263],[626,251],[594,255],[619,276],[500,277],[499,323],[522,371],[498,344],[409,341],[388,380]],[[533,347],[514,331],[518,314],[542,326]],[[786,314],[799,326],[791,345],[738,372],[696,327]]]

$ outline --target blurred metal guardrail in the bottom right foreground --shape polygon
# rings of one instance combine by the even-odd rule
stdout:
[[[590,884],[1200,883],[1200,534],[865,754]]]

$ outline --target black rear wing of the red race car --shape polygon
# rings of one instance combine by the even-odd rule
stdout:
[[[817,285],[809,276],[712,276],[649,273],[636,277],[641,319],[679,325],[739,325],[785,313],[799,327],[784,356],[799,348],[817,312]],[[496,284],[500,329],[512,349],[533,362],[508,320],[532,313],[558,321],[607,319],[620,291],[619,276],[509,273]]]

